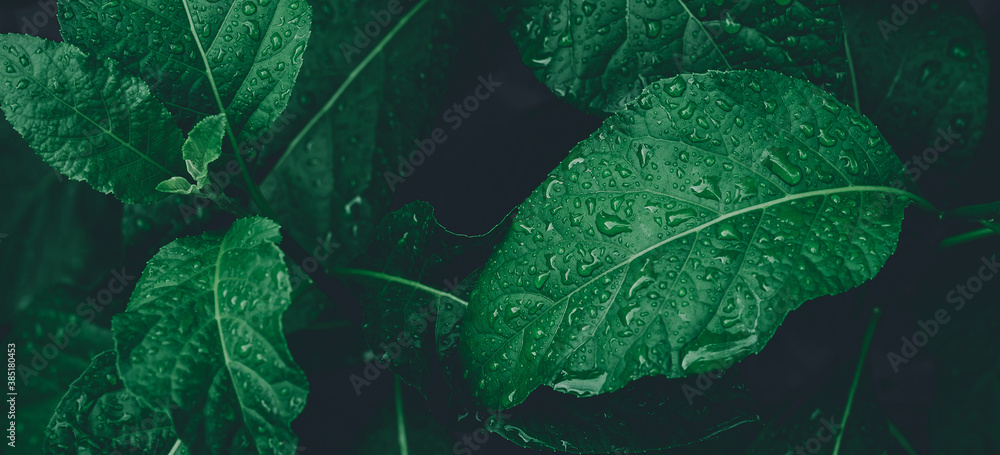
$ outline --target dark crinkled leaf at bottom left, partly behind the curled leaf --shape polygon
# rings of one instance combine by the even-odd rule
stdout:
[[[122,384],[116,358],[114,351],[98,354],[70,385],[46,429],[45,453],[187,454],[170,415],[144,404]],[[174,450],[175,445],[180,447]]]

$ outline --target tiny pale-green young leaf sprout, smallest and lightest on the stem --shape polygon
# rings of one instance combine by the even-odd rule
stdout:
[[[191,194],[200,192],[208,183],[208,164],[222,155],[222,137],[226,135],[226,116],[219,114],[205,117],[188,134],[181,146],[181,154],[188,174],[194,178],[191,184],[184,177],[172,177],[160,182],[157,191],[164,193]]]

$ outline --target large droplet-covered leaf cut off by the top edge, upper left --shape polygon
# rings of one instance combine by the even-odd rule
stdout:
[[[182,125],[221,104],[244,141],[288,104],[312,20],[304,0],[59,0],[59,11],[67,42],[144,78]]]

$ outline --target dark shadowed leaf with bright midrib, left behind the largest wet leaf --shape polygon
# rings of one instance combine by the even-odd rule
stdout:
[[[454,348],[454,329],[475,283],[460,260],[485,262],[505,227],[479,236],[448,231],[430,204],[417,201],[386,215],[358,269],[343,270],[364,308],[365,336],[380,360],[423,393],[440,375],[444,353]],[[457,314],[456,314],[457,313]],[[404,345],[396,355],[393,343]]]

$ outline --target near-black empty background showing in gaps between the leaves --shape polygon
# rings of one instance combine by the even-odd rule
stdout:
[[[932,194],[935,188],[951,187],[967,196],[965,204],[1000,199],[1000,179],[996,176],[1000,170],[1000,151],[997,150],[1000,122],[996,103],[1000,90],[995,89],[998,86],[996,67],[1000,62],[995,45],[1000,34],[1000,5],[988,0],[972,3],[986,30],[994,67],[986,134],[974,164],[963,178],[921,181],[925,194]],[[35,1],[6,0],[0,4],[0,32],[23,32],[23,19],[31,17],[38,8]],[[503,85],[461,128],[449,129],[449,139],[398,187],[394,200],[394,208],[413,200],[429,201],[444,226],[467,234],[483,233],[497,224],[542,182],[573,145],[600,124],[600,119],[558,101],[521,64],[506,30],[486,13],[485,8],[476,9],[479,14],[471,15],[461,27],[464,39],[459,40],[458,57],[450,69],[451,87],[441,111],[472,94],[480,75],[492,74]],[[37,32],[27,31],[58,39],[58,25],[54,20]],[[439,126],[445,125],[439,123]],[[908,157],[918,151],[896,152],[901,157]],[[945,295],[975,273],[981,256],[1000,252],[997,237],[946,251],[936,250],[941,239],[976,228],[961,221],[938,221],[911,208],[907,211],[897,253],[865,286],[863,295],[852,290],[816,299],[790,313],[767,348],[739,366],[760,404],[762,418],[766,421],[780,416],[824,387],[846,391],[849,382],[843,381],[842,373],[853,369],[868,315],[871,308],[878,305],[883,315],[862,382],[874,385],[882,410],[918,453],[931,453],[935,413],[949,405],[947,400],[954,399],[956,389],[974,383],[976,375],[982,371],[967,366],[968,362],[954,362],[953,355],[948,352],[936,354],[935,349],[924,349],[902,365],[899,373],[894,373],[886,355],[890,351],[900,351],[900,337],[912,335],[917,330],[918,319],[929,319],[938,308],[951,308],[945,302]],[[340,304],[348,308],[348,319],[356,320],[357,302],[346,293],[342,297],[344,300]],[[948,332],[943,331],[931,344],[965,346],[963,334],[978,333],[977,328],[982,324],[995,320],[998,304],[1000,282],[989,282],[970,301],[968,309],[952,312],[954,319],[948,325]],[[994,308],[990,308],[991,305]],[[361,372],[361,353],[366,349],[363,340],[358,324],[334,333],[290,337],[292,352],[297,361],[302,358],[300,364],[309,373],[311,383],[309,404],[294,423],[301,437],[300,445],[306,448],[304,453],[349,453],[372,437],[370,435],[378,434],[371,430],[382,423],[380,419],[392,405],[393,381],[385,375],[365,388],[361,396],[355,395],[347,378]],[[990,341],[994,345],[997,343],[984,340]],[[971,344],[968,355],[974,359],[981,348],[975,343],[966,343]],[[982,349],[984,357],[980,363],[998,362],[990,356],[995,351]],[[996,382],[997,378],[991,380]],[[840,385],[831,384],[831,381],[840,381]],[[407,406],[423,405],[414,391],[407,390],[406,394]],[[994,409],[1000,401],[990,400],[997,399],[1000,396],[982,398],[987,407],[992,405]],[[453,434],[456,438],[461,436]],[[997,453],[998,449],[994,446],[984,450],[980,453]],[[740,451],[734,448],[733,453]],[[513,444],[493,436],[476,453],[520,452]]]

